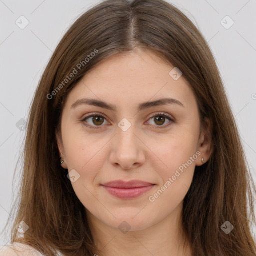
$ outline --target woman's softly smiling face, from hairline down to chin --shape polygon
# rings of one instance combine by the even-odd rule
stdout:
[[[86,213],[105,225],[142,230],[181,209],[208,158],[196,98],[173,68],[150,51],[115,55],[67,96],[58,147]]]

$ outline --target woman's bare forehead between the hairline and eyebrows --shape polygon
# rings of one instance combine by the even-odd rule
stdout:
[[[126,107],[172,97],[184,106],[196,104],[187,80],[173,79],[174,66],[152,51],[136,50],[111,56],[93,67],[68,94],[67,105],[82,97],[101,99]],[[123,106],[124,106],[123,105]]]

